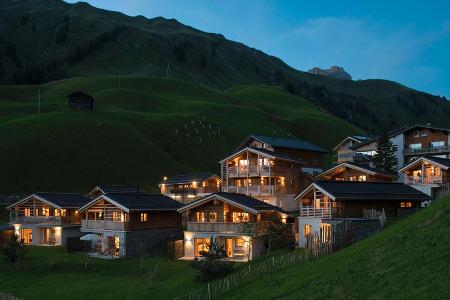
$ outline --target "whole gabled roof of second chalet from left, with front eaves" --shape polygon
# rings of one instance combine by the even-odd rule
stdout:
[[[182,206],[180,202],[161,194],[112,193],[98,196],[86,203],[79,211],[86,210],[99,200],[106,200],[126,212],[139,210],[176,211]]]

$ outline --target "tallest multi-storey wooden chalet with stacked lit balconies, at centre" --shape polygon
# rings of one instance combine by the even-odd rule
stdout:
[[[293,196],[322,171],[325,152],[306,141],[251,135],[220,161],[222,191],[294,211]]]

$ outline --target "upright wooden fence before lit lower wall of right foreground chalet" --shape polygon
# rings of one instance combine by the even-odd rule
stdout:
[[[344,220],[337,224],[326,224],[320,231],[306,237],[305,250],[311,257],[331,254],[349,245],[353,240],[353,223]]]

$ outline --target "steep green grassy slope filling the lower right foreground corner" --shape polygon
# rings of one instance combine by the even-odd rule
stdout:
[[[443,299],[450,197],[334,255],[240,287],[231,299]]]

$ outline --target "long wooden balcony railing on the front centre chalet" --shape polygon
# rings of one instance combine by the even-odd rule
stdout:
[[[259,236],[266,233],[268,223],[187,222],[187,231]]]

